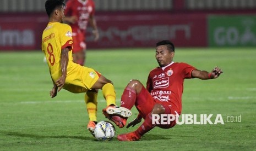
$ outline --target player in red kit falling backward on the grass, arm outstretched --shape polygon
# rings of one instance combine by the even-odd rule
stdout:
[[[139,80],[130,80],[124,89],[121,97],[121,107],[131,109],[135,105],[139,111],[138,117],[131,121],[127,128],[140,123],[142,118],[145,120],[134,132],[118,135],[117,139],[119,141],[137,141],[155,126],[162,129],[175,126],[175,120],[166,125],[160,125],[161,123],[153,125],[152,114],[181,114],[184,79],[215,79],[222,73],[219,67],[207,72],[187,63],[173,62],[174,56],[175,47],[169,40],[156,43],[155,57],[159,67],[150,71],[146,88]],[[123,125],[126,124],[126,120],[127,118],[123,119]]]

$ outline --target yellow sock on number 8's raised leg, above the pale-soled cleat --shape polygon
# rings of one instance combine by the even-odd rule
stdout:
[[[106,100],[107,106],[110,104],[116,105],[116,92],[113,84],[107,83],[102,86],[103,96]]]

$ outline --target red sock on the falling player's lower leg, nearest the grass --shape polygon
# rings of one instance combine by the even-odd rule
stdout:
[[[135,135],[137,136],[143,136],[146,132],[152,130],[155,127],[155,125],[152,125],[152,115],[149,113],[145,121],[143,122],[142,125],[139,126],[139,128],[134,131]]]

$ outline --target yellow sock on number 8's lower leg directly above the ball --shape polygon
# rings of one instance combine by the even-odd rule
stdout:
[[[97,92],[87,91],[84,95],[90,121],[97,121]]]

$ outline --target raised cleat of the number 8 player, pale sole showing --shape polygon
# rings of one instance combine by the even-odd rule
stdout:
[[[118,106],[107,106],[105,109],[107,114],[118,115],[119,117],[129,118],[132,115],[129,109]],[[104,111],[103,111],[104,112]]]

